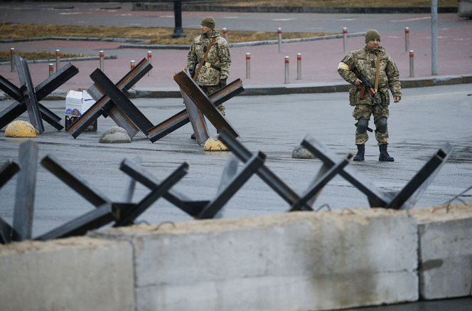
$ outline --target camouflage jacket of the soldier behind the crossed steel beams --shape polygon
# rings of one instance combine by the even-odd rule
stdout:
[[[210,63],[220,70],[202,65],[195,79],[198,85],[218,85],[220,79],[230,76],[230,47],[218,31],[213,31],[209,36],[203,34],[195,38],[187,54],[187,68],[191,70],[195,62],[200,62],[214,37],[216,40],[205,58],[205,63]]]

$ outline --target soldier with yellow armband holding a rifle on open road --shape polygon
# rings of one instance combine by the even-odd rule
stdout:
[[[353,161],[363,161],[365,142],[369,137],[367,131],[370,115],[374,117],[375,139],[380,149],[379,161],[394,161],[387,153],[387,118],[390,95],[393,102],[402,98],[397,65],[385,49],[380,46],[380,33],[370,29],[365,33],[365,47],[348,53],[339,63],[338,73],[344,80],[356,88],[349,90],[350,105],[355,106],[353,117],[357,120],[355,126],[355,144],[358,153]],[[370,130],[372,132],[372,130]]]

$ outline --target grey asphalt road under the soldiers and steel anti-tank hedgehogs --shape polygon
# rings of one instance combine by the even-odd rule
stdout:
[[[378,162],[378,147],[370,135],[365,162],[350,165],[385,191],[399,191],[439,147],[449,142],[455,147],[454,154],[416,207],[444,204],[472,186],[472,96],[468,96],[471,93],[470,85],[404,90],[404,100],[390,106],[389,152],[395,162]],[[346,97],[345,93],[240,96],[227,102],[227,117],[240,132],[240,142],[252,152],[266,153],[267,167],[301,194],[321,165],[316,159],[291,157],[294,147],[306,135],[318,139],[340,159],[348,152],[355,152],[354,120]],[[153,124],[183,109],[179,99],[136,99],[133,102]],[[0,102],[0,110],[10,103]],[[43,104],[56,114],[64,115],[63,101]],[[26,114],[21,118],[27,120]],[[127,176],[119,171],[119,163],[136,156],[160,179],[181,163],[188,162],[190,172],[176,189],[195,200],[211,199],[215,195],[228,153],[204,152],[203,146],[190,139],[191,125],[181,127],[154,144],[142,134],[131,144],[98,143],[99,135],[112,125],[110,118],[100,117],[98,132],[84,132],[77,139],[46,125],[45,132],[34,141],[38,143],[40,159],[52,154],[112,201],[123,199],[128,183]],[[215,134],[211,125],[210,132]],[[18,146],[23,139],[0,136],[0,159],[17,159]],[[12,218],[15,187],[16,181],[11,180],[0,189],[0,216],[8,222]],[[38,170],[36,189],[34,236],[92,209],[42,167]],[[146,194],[147,190],[139,186],[135,199]],[[331,209],[368,207],[366,196],[341,177],[336,177],[323,189],[315,206],[322,204],[328,204]],[[289,206],[283,199],[259,177],[253,176],[227,204],[225,216],[279,214],[287,209]],[[159,223],[190,217],[159,200],[141,219]]]

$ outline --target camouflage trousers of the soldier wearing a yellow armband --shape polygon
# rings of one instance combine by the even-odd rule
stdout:
[[[383,107],[383,110],[380,110],[378,105],[356,105],[353,111],[353,117],[355,120],[359,120],[360,118],[370,120],[370,115],[374,116],[374,124],[380,117],[387,117],[389,116],[388,113],[388,105]],[[360,134],[358,130],[355,130],[355,144],[365,144],[369,140],[369,136],[366,131],[363,134]],[[387,144],[388,140],[388,130],[385,133],[380,133],[375,130],[375,139],[377,139],[377,144]]]

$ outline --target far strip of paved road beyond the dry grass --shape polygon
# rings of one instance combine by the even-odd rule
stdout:
[[[11,23],[53,23],[76,26],[175,26],[173,11],[132,11],[129,3],[4,3],[0,18]],[[38,19],[38,14],[42,18]],[[214,16],[217,28],[247,31],[287,32],[362,32],[368,27],[380,33],[431,30],[431,14],[300,14],[300,13],[236,13],[183,11],[183,28],[200,28],[204,16]],[[427,23],[425,23],[427,21]],[[457,14],[439,14],[439,28],[454,28],[471,21]]]

